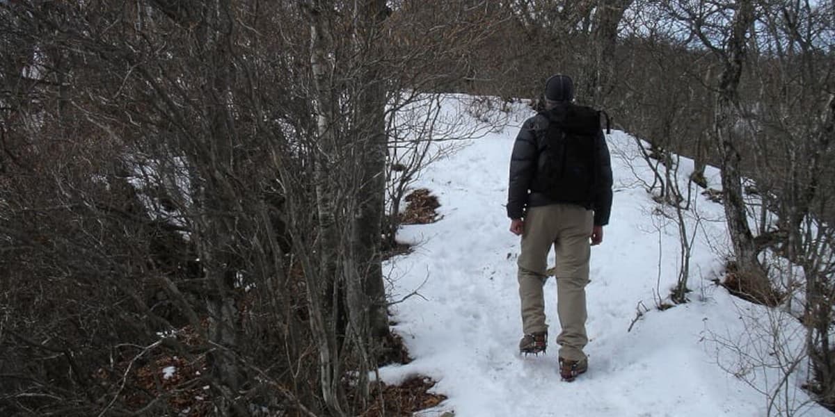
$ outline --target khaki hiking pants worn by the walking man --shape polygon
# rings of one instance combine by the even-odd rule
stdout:
[[[556,252],[559,357],[585,359],[585,285],[589,284],[591,210],[574,204],[528,208],[519,255],[519,298],[525,334],[548,330],[543,285],[551,245]]]

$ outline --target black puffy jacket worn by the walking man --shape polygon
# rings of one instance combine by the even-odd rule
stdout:
[[[508,189],[508,217],[510,219],[524,218],[524,208],[544,206],[559,201],[559,190],[555,193],[540,193],[532,191],[537,178],[542,176],[546,163],[543,150],[546,146],[549,118],[564,118],[565,108],[557,107],[546,117],[544,113],[529,118],[522,125],[514,142],[514,151],[510,159],[510,185]],[[595,211],[595,226],[609,224],[609,214],[612,208],[612,167],[609,147],[606,146],[605,135],[600,130],[595,138],[595,150],[598,153],[597,178],[595,180],[594,197],[584,207]],[[551,194],[551,195],[548,195]],[[556,196],[556,197],[554,197]]]

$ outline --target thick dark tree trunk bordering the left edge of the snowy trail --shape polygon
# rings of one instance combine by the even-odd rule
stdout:
[[[382,217],[386,192],[386,88],[380,66],[382,21],[386,18],[385,0],[358,2],[355,10],[357,27],[352,42],[360,76],[353,94],[354,109],[352,142],[357,149],[356,161],[360,183],[357,184],[356,212],[352,217],[351,250],[346,265],[347,310],[351,325],[349,334],[355,338],[359,355],[361,401],[369,396],[368,371],[374,364],[373,339],[388,334],[386,294],[382,280]],[[362,404],[365,408],[365,404]]]

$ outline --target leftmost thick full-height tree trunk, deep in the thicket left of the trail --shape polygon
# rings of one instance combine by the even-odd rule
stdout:
[[[209,81],[204,88],[204,112],[208,119],[206,139],[196,145],[193,154],[198,155],[195,163],[201,164],[204,187],[201,190],[202,216],[198,250],[204,265],[207,283],[206,309],[209,313],[207,335],[213,344],[219,346],[210,352],[212,376],[220,381],[218,387],[225,398],[221,414],[248,414],[245,405],[236,404],[245,372],[233,352],[238,350],[240,333],[240,312],[235,288],[240,262],[230,248],[235,247],[235,224],[226,217],[239,212],[236,207],[235,191],[227,176],[234,169],[232,141],[234,137],[233,118],[228,100],[234,71],[232,63],[231,38],[234,23],[231,20],[230,0],[215,0],[202,5],[203,16],[196,28],[195,41],[203,50],[205,68],[211,68]],[[202,156],[208,156],[204,158]],[[206,166],[208,165],[208,166]],[[220,215],[219,215],[220,214]]]

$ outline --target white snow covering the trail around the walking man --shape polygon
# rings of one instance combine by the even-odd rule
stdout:
[[[788,347],[782,355],[775,355],[767,340],[746,335],[745,329],[756,334],[757,326],[777,319],[783,319],[777,323],[783,329],[797,324],[711,283],[727,252],[726,232],[721,206],[698,193],[698,215],[691,214],[689,226],[691,234],[696,230],[691,303],[655,309],[655,294],[665,297],[676,282],[678,231],[653,214],[659,205],[640,183],[640,178],[651,182],[651,176],[634,139],[621,132],[608,136],[615,201],[604,243],[592,251],[587,288],[590,370],[572,383],[559,379],[553,278],[545,285],[550,349],[538,357],[518,354],[519,238],[508,231],[504,203],[513,140],[530,115],[519,108],[500,132],[468,141],[431,165],[416,184],[438,196],[443,219],[404,227],[398,239],[417,245],[412,254],[387,264],[392,298],[415,290],[420,297],[393,308],[395,330],[414,361],[381,369],[382,379],[397,383],[423,374],[437,380],[434,390],[448,400],[422,415],[448,410],[462,417],[767,415],[768,397],[759,390],[777,387],[782,374],[757,362],[797,354],[802,332],[782,341]],[[682,160],[681,172],[690,169],[691,162]],[[707,177],[711,186],[718,185],[716,170]],[[649,312],[628,332],[639,303]],[[805,378],[805,365],[801,368],[789,379],[788,399],[775,406],[832,415],[807,404],[797,389]]]

